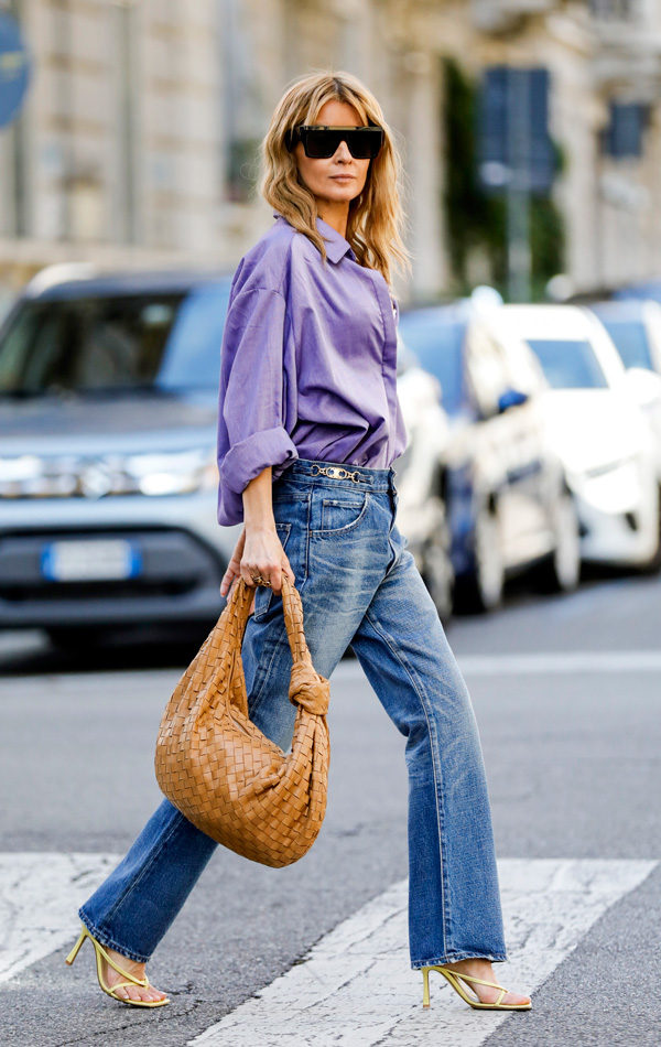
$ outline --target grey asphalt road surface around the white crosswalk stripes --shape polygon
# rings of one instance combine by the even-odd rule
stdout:
[[[659,859],[660,604],[660,579],[600,580],[564,598],[519,591],[499,614],[449,626],[499,857]],[[126,851],[159,802],[155,732],[191,654],[136,645],[74,666],[37,635],[1,638],[6,856]],[[218,850],[150,963],[173,1003],[116,1004],[98,990],[88,945],[72,969],[58,949],[0,984],[2,1044],[184,1047],[405,877],[404,743],[357,669],[345,659],[332,680],[317,843],[280,871]],[[661,866],[592,926],[534,992],[532,1012],[484,1041],[658,1047],[660,894]],[[72,913],[72,943],[76,926]]]

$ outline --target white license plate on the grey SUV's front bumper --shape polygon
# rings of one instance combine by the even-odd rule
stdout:
[[[55,541],[44,546],[41,566],[53,582],[88,582],[134,578],[142,562],[136,546],[123,539]]]

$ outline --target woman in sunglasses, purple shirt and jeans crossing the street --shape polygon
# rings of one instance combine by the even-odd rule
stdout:
[[[256,589],[242,661],[251,719],[282,748],[295,709],[281,607],[295,582],[317,672],[350,644],[407,737],[411,964],[472,1006],[528,1010],[496,983],[503,961],[487,782],[475,715],[434,604],[395,525],[393,261],[400,161],[376,98],[346,73],[313,73],[279,102],[261,192],[275,222],[236,271],[221,349],[218,521],[243,520],[220,586]],[[144,974],[216,849],[164,800],[83,905],[101,987],[138,1006]],[[460,975],[462,981],[457,981]]]

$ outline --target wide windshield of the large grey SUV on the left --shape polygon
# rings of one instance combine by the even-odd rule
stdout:
[[[0,337],[0,396],[217,389],[228,293],[24,301]]]

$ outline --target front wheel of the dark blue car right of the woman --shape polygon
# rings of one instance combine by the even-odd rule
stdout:
[[[500,606],[505,587],[500,519],[497,508],[488,504],[475,520],[474,558],[473,573],[457,579],[455,607],[483,614]]]

